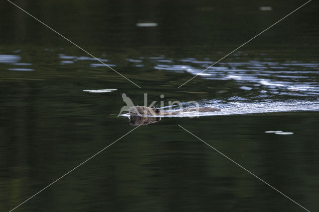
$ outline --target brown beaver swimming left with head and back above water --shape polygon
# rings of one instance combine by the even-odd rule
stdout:
[[[193,108],[186,108],[182,110],[177,111],[162,111],[160,109],[151,108],[151,107],[145,107],[145,106],[135,106],[130,108],[130,115],[131,116],[173,116],[180,114],[182,112],[215,112],[220,111],[218,108],[212,108],[212,107],[193,107]]]

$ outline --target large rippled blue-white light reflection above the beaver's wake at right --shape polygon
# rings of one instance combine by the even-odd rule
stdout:
[[[212,61],[196,61],[194,58],[183,59],[181,65],[165,65],[159,63],[155,66],[158,70],[189,72],[197,75],[209,67]],[[198,66],[198,64],[200,64]],[[319,81],[313,76],[319,74],[319,63],[277,63],[248,61],[237,63],[219,63],[203,73],[199,77],[211,80],[236,80],[241,89],[264,93],[264,97],[272,95],[288,96],[318,96]],[[247,86],[248,85],[248,86]],[[289,92],[289,91],[296,92]],[[267,94],[265,94],[267,93]]]

